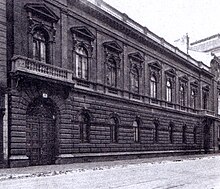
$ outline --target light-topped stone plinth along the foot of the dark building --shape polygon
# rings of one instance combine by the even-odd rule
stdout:
[[[115,161],[115,160],[128,160],[128,159],[138,159],[138,158],[196,155],[196,154],[204,154],[204,153],[205,153],[204,150],[172,150],[172,151],[60,154],[59,156],[57,156],[55,164]],[[215,153],[214,149],[210,149],[209,153]],[[27,156],[11,156],[9,162],[10,162],[9,166],[11,168],[29,166],[29,159]]]

